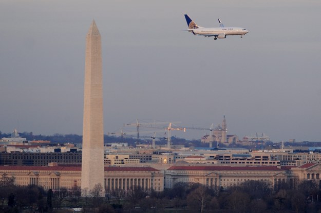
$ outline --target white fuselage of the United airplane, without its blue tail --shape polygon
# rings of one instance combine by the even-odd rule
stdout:
[[[215,28],[197,28],[189,29],[196,35],[219,36],[219,35],[245,35],[249,31],[240,27],[215,27]]]

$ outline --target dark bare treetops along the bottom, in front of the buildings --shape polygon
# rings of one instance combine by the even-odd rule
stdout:
[[[43,188],[15,186],[14,179],[2,177],[0,182],[0,212],[321,212],[321,190],[312,181],[301,182],[296,189],[287,184],[273,188],[263,181],[247,181],[226,189],[206,188],[201,184],[177,183],[172,189],[158,193],[136,188],[131,191],[110,190],[105,197],[100,185],[91,191],[45,191]]]

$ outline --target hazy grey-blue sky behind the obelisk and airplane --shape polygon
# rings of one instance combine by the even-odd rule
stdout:
[[[321,141],[319,0],[0,2],[0,131],[82,134],[85,37],[102,36],[104,130],[181,121]],[[194,36],[203,27],[243,38]],[[199,139],[205,131],[172,133]]]

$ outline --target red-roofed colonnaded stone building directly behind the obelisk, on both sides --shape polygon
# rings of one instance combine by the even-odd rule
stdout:
[[[0,177],[14,177],[16,185],[40,185],[45,189],[81,186],[81,166],[0,166]],[[106,190],[162,191],[164,175],[152,167],[105,167]]]

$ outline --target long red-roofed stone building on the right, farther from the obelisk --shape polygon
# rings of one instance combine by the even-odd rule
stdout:
[[[313,172],[309,171],[312,169]],[[321,165],[291,166],[172,166],[165,171],[165,188],[178,182],[201,183],[220,188],[239,185],[244,181],[259,180],[277,187],[287,183],[296,187],[301,180],[321,178]],[[321,184],[321,182],[318,182]]]

